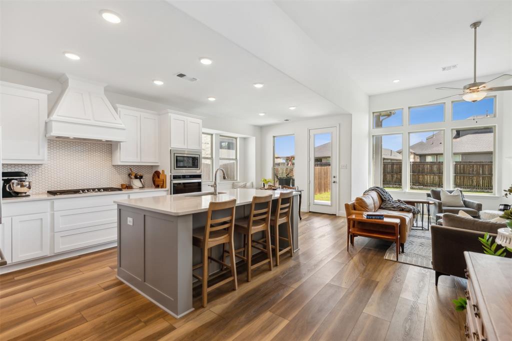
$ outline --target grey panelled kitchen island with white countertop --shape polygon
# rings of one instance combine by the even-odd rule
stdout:
[[[280,193],[237,188],[217,196],[194,193],[115,201],[117,277],[169,314],[185,315],[194,309],[192,267],[201,262],[201,250],[192,245],[192,230],[204,227],[209,203],[237,199],[238,219],[248,217],[253,196],[272,194],[275,206]],[[294,193],[291,214],[294,250],[298,249],[298,195]],[[280,228],[285,235],[285,226]],[[235,234],[234,242],[235,248],[241,247],[242,237]],[[214,251],[214,257],[221,257],[220,248]]]

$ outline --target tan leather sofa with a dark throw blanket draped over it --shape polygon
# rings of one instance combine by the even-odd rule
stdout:
[[[354,214],[361,214],[362,212],[381,212],[385,217],[398,218],[400,219],[400,248],[403,252],[403,245],[407,241],[407,236],[411,231],[411,227],[414,222],[414,214],[406,211],[392,211],[389,209],[380,209],[382,200],[378,193],[374,190],[370,190],[368,193],[355,198],[354,201],[345,204],[345,212],[347,217]],[[362,222],[356,222],[356,227],[372,230],[389,230],[390,226],[378,225],[378,224],[367,224]]]

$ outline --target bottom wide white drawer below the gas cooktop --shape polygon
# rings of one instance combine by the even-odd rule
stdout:
[[[117,240],[117,223],[54,233],[54,252],[70,251]]]

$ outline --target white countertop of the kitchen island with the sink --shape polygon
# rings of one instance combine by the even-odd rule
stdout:
[[[228,189],[226,190],[225,194],[219,194],[217,196],[195,196],[198,195],[199,193],[191,193],[139,199],[115,200],[114,203],[123,206],[146,209],[153,212],[159,212],[171,216],[184,216],[193,213],[207,211],[210,202],[226,201],[234,198],[237,199],[237,206],[240,206],[251,203],[253,196],[266,196],[272,194],[273,199],[276,199],[279,197],[279,194],[282,191],[288,192],[293,190],[236,188]],[[299,192],[294,193],[294,195],[297,196],[299,194]]]

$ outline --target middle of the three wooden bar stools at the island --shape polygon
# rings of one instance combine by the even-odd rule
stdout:
[[[256,208],[256,207],[260,208]],[[270,239],[270,215],[272,211],[272,195],[269,194],[263,197],[252,197],[251,211],[248,218],[237,219],[234,222],[234,230],[244,235],[244,247],[234,250],[235,257],[239,257],[247,263],[247,282],[251,280],[252,269],[262,264],[268,263],[269,270],[272,270],[272,242]],[[253,240],[252,235],[256,232],[265,232],[265,242],[263,240]],[[257,243],[265,248],[257,245]],[[252,264],[252,248],[267,252],[267,259]],[[237,254],[237,252],[244,251],[244,255]],[[224,252],[224,255],[226,252]]]

